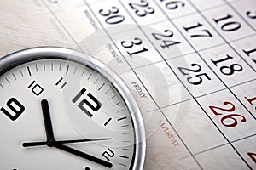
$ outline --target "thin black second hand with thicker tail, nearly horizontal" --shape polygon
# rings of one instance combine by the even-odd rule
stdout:
[[[55,143],[59,144],[73,144],[80,142],[92,142],[92,141],[101,141],[101,140],[110,140],[111,138],[102,138],[102,139],[76,139],[76,140],[56,140]],[[25,142],[22,144],[23,147],[31,147],[31,146],[40,146],[47,145],[47,142]]]

